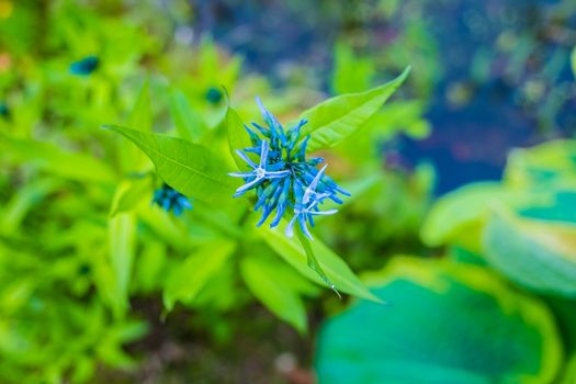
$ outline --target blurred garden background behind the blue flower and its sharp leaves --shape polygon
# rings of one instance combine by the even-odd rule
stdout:
[[[0,0],[0,382],[575,383],[575,46],[573,0]],[[364,184],[318,237],[385,309],[263,245],[194,274],[244,230],[234,213],[153,210],[160,181],[99,128],[200,126],[227,150],[223,86],[290,121],[408,65],[323,154]],[[295,312],[238,272],[252,252]],[[172,292],[187,279],[193,298]]]

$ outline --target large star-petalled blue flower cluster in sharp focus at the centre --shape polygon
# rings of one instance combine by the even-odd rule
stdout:
[[[324,159],[306,159],[309,135],[301,138],[301,128],[307,123],[305,120],[285,131],[258,98],[257,103],[267,126],[252,123],[255,129],[251,129],[245,125],[252,147],[237,149],[236,153],[251,170],[229,173],[242,178],[246,182],[236,190],[234,196],[256,190],[258,201],[255,211],[262,210],[258,226],[275,212],[270,223],[270,227],[273,228],[280,224],[284,213],[287,213],[293,216],[286,226],[286,236],[293,236],[294,225],[297,222],[302,233],[312,239],[307,225],[314,227],[314,216],[338,212],[338,210],[320,211],[319,205],[326,200],[341,204],[338,194],[350,196],[350,193],[326,176],[327,166],[320,170],[316,168]],[[258,161],[252,161],[250,155],[258,156]]]

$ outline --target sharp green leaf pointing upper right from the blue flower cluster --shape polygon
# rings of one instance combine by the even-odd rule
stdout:
[[[410,67],[381,87],[366,92],[342,94],[305,111],[301,118],[308,121],[302,128],[302,137],[310,135],[307,150],[334,147],[358,131],[384,105],[409,71]]]

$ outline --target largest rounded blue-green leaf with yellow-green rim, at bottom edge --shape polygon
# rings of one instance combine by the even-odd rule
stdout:
[[[562,361],[540,302],[485,269],[398,258],[373,278],[389,305],[368,301],[321,327],[320,384],[551,383]]]

